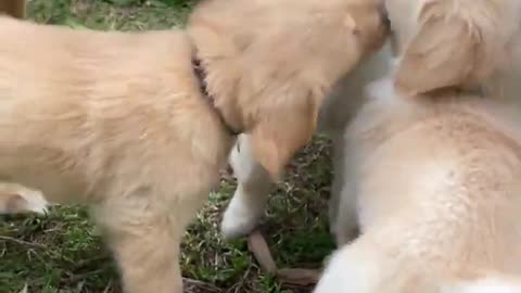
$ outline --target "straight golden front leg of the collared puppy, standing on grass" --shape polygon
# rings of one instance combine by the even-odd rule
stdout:
[[[162,206],[148,191],[96,208],[118,264],[125,293],[182,293],[179,250],[183,212]],[[138,194],[139,193],[139,194]]]

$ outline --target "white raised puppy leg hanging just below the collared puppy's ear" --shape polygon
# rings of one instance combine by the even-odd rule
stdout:
[[[255,228],[264,215],[272,184],[268,173],[255,162],[246,135],[239,137],[230,154],[230,164],[238,187],[223,218],[225,238],[244,235]]]

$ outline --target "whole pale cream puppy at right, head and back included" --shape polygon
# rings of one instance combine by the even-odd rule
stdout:
[[[510,69],[521,2],[386,7],[399,59],[346,130],[341,249],[316,293],[521,292],[521,113],[466,91]]]

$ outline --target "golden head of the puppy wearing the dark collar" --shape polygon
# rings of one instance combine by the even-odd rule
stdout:
[[[251,135],[271,176],[309,141],[332,85],[383,44],[382,7],[380,0],[216,0],[192,14],[189,33],[215,104]]]

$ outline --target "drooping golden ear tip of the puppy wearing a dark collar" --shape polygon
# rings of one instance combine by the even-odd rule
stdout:
[[[318,109],[308,101],[293,107],[274,106],[262,114],[251,142],[256,160],[276,180],[295,152],[312,139]]]

